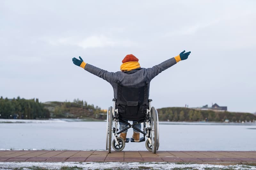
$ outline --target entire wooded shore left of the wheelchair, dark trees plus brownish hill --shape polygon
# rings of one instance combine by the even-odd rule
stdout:
[[[100,113],[100,107],[79,99],[41,103],[37,98],[0,98],[0,119],[95,118]]]

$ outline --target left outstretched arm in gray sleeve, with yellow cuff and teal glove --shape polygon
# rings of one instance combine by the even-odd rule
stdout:
[[[98,67],[92,66],[90,64],[86,64],[83,59],[79,56],[80,60],[77,58],[72,58],[73,63],[76,66],[80,66],[84,68],[84,70],[108,81],[108,82],[113,82],[114,81],[114,73],[113,72],[108,72],[106,70],[102,70]]]

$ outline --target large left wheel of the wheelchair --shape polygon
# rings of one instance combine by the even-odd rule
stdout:
[[[108,153],[111,153],[112,122],[113,122],[112,106],[110,106],[107,112],[106,150],[108,150]]]

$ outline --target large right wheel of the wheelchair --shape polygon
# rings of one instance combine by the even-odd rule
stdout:
[[[155,107],[151,108],[151,143],[152,143],[152,153],[156,153],[156,148],[157,148],[157,112]]]

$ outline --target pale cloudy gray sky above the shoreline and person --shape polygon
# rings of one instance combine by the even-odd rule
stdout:
[[[0,1],[0,96],[83,99],[107,109],[113,89],[72,63],[119,71],[191,51],[150,84],[156,108],[217,103],[256,112],[256,1]]]

